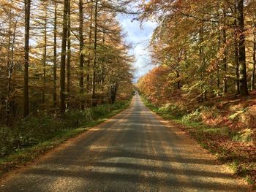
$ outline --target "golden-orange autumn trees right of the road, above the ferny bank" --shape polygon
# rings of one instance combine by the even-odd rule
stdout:
[[[255,9],[254,1],[148,2],[141,19],[158,15],[151,53],[159,67],[140,79],[141,89],[154,99],[248,96],[255,90]],[[162,85],[157,93],[143,88],[150,81],[156,85],[147,88]]]

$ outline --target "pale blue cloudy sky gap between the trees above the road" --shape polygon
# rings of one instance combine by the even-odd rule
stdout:
[[[132,45],[130,54],[135,55],[135,79],[146,74],[154,66],[151,64],[151,58],[149,50],[147,49],[149,41],[153,34],[154,28],[157,27],[157,23],[152,21],[143,22],[142,27],[140,22],[132,20],[135,16],[132,15],[118,15],[118,20],[124,29],[124,33],[127,34],[126,41]]]

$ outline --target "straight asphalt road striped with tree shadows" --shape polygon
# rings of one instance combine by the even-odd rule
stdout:
[[[248,191],[196,142],[146,108],[129,109],[0,183],[0,191]]]

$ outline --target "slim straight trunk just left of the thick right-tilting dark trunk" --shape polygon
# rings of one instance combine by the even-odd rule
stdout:
[[[57,105],[57,0],[54,1],[53,107]]]

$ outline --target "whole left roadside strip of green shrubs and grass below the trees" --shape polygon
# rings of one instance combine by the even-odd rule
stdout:
[[[129,106],[130,99],[86,110],[73,110],[65,117],[38,114],[20,120],[12,128],[0,127],[0,175],[34,161],[62,142],[87,131]]]

